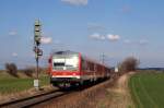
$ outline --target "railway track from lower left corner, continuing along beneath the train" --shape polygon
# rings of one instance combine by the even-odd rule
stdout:
[[[104,81],[106,82],[106,81]],[[84,91],[92,88],[94,86],[98,86],[101,83],[96,83],[90,86],[85,86]],[[78,91],[78,92],[77,92]],[[34,107],[37,105],[42,105],[44,103],[50,101],[52,99],[56,99],[58,97],[65,97],[71,93],[79,93],[82,92],[81,88],[79,91],[79,88],[75,89],[68,89],[68,91],[60,91],[60,89],[54,89],[50,92],[46,92],[46,93],[42,93],[35,96],[30,96],[30,97],[25,97],[25,98],[20,98],[20,99],[15,99],[12,101],[8,101],[8,103],[3,103],[0,104],[0,108],[28,108],[28,107]],[[68,96],[69,97],[69,96]]]

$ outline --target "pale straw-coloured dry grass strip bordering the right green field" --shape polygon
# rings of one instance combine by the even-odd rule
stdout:
[[[131,74],[133,74],[133,72],[124,74],[118,79],[115,86],[107,88],[108,98],[110,98],[112,101],[110,106],[106,106],[105,108],[134,108],[128,87],[128,80]]]

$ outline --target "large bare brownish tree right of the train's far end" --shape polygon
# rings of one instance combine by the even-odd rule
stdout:
[[[136,71],[138,65],[139,65],[138,59],[136,59],[134,57],[128,57],[121,63],[119,63],[119,70],[122,73]]]

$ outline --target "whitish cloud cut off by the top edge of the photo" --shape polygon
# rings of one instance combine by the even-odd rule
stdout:
[[[87,0],[61,0],[62,2],[66,2],[71,5],[86,5]]]

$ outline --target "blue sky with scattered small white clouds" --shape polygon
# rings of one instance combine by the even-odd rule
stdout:
[[[55,50],[73,50],[117,65],[164,67],[164,0],[0,0],[0,69],[35,64],[34,22],[42,23],[40,64]]]

